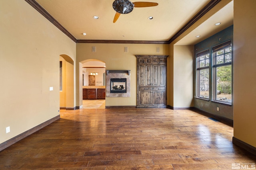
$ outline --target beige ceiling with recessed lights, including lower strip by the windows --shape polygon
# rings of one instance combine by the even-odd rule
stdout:
[[[210,2],[210,0],[146,0],[146,2],[157,2],[158,6],[134,8],[130,14],[121,14],[116,23],[113,23],[116,14],[112,8],[113,1],[36,0],[76,39],[135,41],[168,41]],[[225,1],[230,2],[230,0]],[[177,44],[195,44],[232,25],[233,2],[218,10],[216,14],[210,14],[206,21]],[[93,16],[98,16],[99,19],[95,20]],[[153,16],[153,20],[148,20],[149,16]],[[215,26],[216,22],[222,24]],[[195,38],[196,35],[201,37]]]

